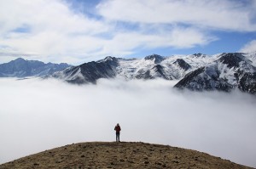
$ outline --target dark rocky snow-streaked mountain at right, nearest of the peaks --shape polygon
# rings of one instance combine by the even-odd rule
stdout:
[[[256,93],[256,68],[243,54],[221,54],[214,62],[189,72],[175,87],[190,90],[220,90]]]

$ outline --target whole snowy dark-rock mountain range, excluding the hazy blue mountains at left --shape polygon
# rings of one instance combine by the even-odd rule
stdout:
[[[256,93],[256,53],[189,54],[163,57],[157,54],[143,59],[105,59],[68,67],[55,72],[55,78],[83,84],[100,78],[179,80],[175,87],[194,91],[225,91],[236,88]]]

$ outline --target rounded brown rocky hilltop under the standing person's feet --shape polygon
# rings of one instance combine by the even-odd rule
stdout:
[[[0,165],[15,168],[250,168],[191,149],[144,143],[70,144]]]

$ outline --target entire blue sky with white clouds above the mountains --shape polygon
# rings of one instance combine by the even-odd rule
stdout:
[[[250,53],[255,11],[255,0],[1,1],[0,63]]]

